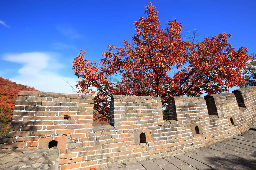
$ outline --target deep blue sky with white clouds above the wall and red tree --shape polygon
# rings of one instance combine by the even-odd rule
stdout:
[[[0,1],[0,76],[40,91],[72,93],[65,83],[79,50],[99,62],[108,45],[121,46],[152,2],[162,27],[175,18],[198,41],[226,32],[236,49],[256,53],[256,1]],[[235,88],[236,89],[236,88]]]

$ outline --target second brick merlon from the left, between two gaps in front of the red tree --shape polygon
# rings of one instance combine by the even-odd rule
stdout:
[[[113,95],[110,103],[110,125],[139,129],[163,125],[160,97]]]

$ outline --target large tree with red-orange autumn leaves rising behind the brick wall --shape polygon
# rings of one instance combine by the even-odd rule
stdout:
[[[160,28],[158,12],[151,4],[147,17],[135,21],[133,42],[122,47],[109,45],[101,62],[85,59],[80,52],[73,62],[79,92],[94,95],[96,118],[109,118],[111,95],[161,97],[162,105],[170,96],[200,96],[203,93],[227,92],[243,85],[250,55],[244,47],[237,51],[227,42],[230,34],[207,37],[194,43],[181,38],[182,26],[176,19]],[[120,81],[111,83],[108,78]]]

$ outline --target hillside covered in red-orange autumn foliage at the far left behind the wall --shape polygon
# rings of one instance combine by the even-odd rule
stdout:
[[[9,132],[16,97],[20,91],[38,90],[0,77],[0,136],[7,135]]]

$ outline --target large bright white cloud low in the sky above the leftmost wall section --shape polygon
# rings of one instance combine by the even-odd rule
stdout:
[[[58,73],[64,65],[54,57],[54,53],[29,52],[4,54],[3,60],[22,64],[17,71],[18,76],[8,77],[18,84],[32,86],[45,92],[74,93],[65,82],[65,75]],[[75,87],[77,81],[75,76],[67,77],[67,80]]]

